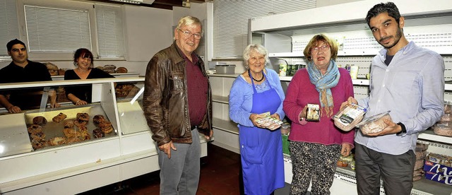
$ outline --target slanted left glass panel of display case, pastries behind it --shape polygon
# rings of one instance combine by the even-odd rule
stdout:
[[[114,110],[114,105],[109,103],[113,100],[112,83],[100,83],[97,87],[100,101],[88,105],[73,105],[64,98],[64,88],[78,85],[11,86],[11,89],[0,86],[0,94],[13,105],[20,105],[21,111],[1,110],[0,157],[117,136],[116,114],[107,113]],[[52,108],[51,99],[57,100],[61,107]]]

